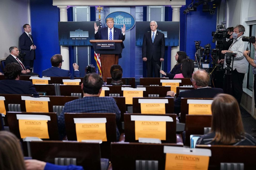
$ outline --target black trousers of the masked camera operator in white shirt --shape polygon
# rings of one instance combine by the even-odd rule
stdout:
[[[232,71],[233,96],[236,98],[238,104],[240,104],[242,99],[244,75],[245,73],[239,73],[236,69]]]

